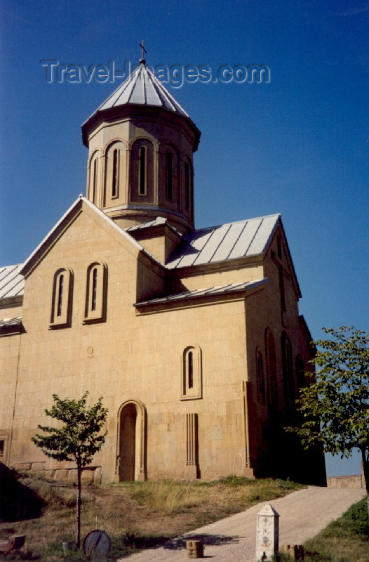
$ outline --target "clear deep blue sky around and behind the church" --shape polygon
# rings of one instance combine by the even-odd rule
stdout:
[[[117,86],[60,65],[267,65],[269,83],[168,86],[202,131],[196,226],[280,212],[314,339],[369,330],[369,1],[3,0],[0,263],[21,263],[86,192],[81,123]],[[358,457],[328,459],[357,473]]]

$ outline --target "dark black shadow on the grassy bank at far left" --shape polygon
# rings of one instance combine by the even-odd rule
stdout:
[[[18,472],[0,463],[0,521],[20,521],[41,516],[43,499],[18,481]]]

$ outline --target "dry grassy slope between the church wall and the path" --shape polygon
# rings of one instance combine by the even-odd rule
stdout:
[[[81,551],[66,557],[62,554],[62,542],[74,540],[74,486],[34,478],[29,473],[21,478],[42,499],[43,511],[39,518],[0,523],[0,539],[11,534],[27,535],[25,547],[4,559],[39,562],[86,559]],[[290,481],[232,476],[211,482],[167,480],[84,486],[81,537],[95,528],[98,516],[98,527],[112,540],[107,560],[115,561],[300,488],[303,486]]]

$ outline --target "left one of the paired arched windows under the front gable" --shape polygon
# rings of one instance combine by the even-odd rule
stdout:
[[[69,327],[72,320],[72,270],[60,268],[54,273],[51,299],[51,328]]]

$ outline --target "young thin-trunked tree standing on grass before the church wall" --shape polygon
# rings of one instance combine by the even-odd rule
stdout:
[[[80,400],[59,398],[53,394],[55,404],[46,415],[62,422],[58,427],[38,426],[45,435],[36,433],[32,441],[37,447],[58,461],[70,461],[77,469],[76,497],[76,547],[81,544],[81,472],[88,466],[95,452],[100,451],[105,443],[107,431],[99,435],[107,419],[108,410],[102,407],[102,397],[91,407],[86,406],[88,392]]]

